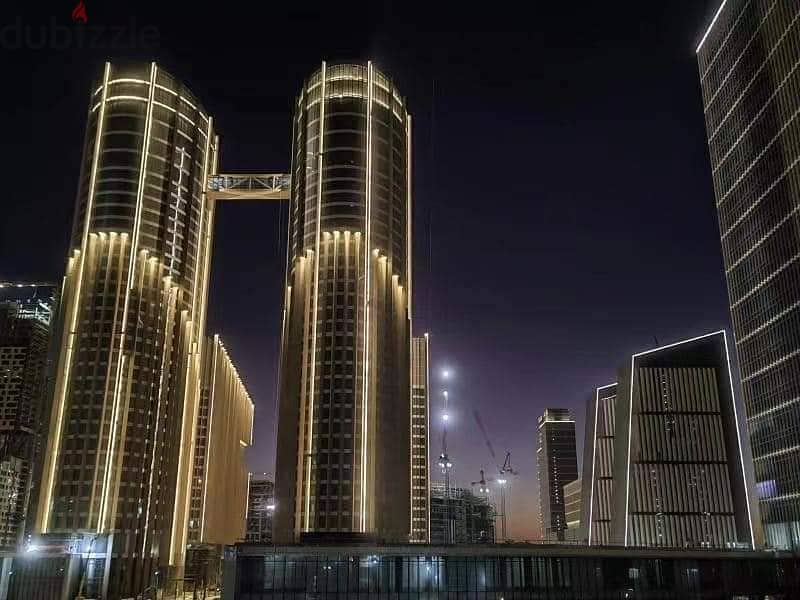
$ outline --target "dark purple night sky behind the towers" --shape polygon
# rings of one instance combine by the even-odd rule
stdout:
[[[453,476],[492,465],[477,409],[520,473],[511,536],[538,537],[545,407],[574,411],[580,450],[586,399],[626,357],[729,328],[694,55],[716,0],[85,2],[93,43],[71,0],[0,17],[0,280],[63,274],[104,60],[184,80],[216,119],[222,171],[285,172],[303,79],[369,58],[414,117],[414,328],[434,375],[454,372]],[[220,206],[209,309],[256,403],[250,465],[268,472],[285,212]]]

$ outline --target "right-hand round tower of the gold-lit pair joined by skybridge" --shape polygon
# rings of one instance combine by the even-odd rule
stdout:
[[[411,118],[371,63],[295,104],[276,541],[408,541]]]

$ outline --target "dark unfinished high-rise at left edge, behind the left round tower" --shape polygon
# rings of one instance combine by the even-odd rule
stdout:
[[[28,517],[56,294],[53,285],[0,283],[0,550],[16,550]]]

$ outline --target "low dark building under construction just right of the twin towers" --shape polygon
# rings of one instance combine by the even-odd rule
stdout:
[[[465,488],[431,484],[431,544],[491,544],[497,512],[488,498]]]

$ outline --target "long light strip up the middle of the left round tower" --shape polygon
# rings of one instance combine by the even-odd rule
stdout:
[[[119,359],[117,360],[116,385],[117,392],[114,395],[114,406],[111,413],[111,435],[106,454],[106,465],[104,471],[103,494],[101,496],[100,521],[98,522],[98,533],[105,528],[106,517],[108,515],[109,494],[111,482],[111,469],[114,464],[114,453],[117,441],[117,420],[119,419],[119,402],[122,395],[123,359],[125,352],[125,338],[127,337],[128,326],[128,307],[130,305],[131,290],[133,290],[133,277],[136,269],[136,261],[139,253],[139,231],[142,220],[142,204],[144,202],[145,174],[147,172],[147,157],[150,153],[150,132],[153,125],[153,98],[156,89],[156,75],[158,68],[156,63],[150,64],[150,87],[148,89],[147,115],[145,117],[144,140],[142,140],[142,156],[139,164],[139,184],[136,191],[136,213],[133,221],[133,238],[131,240],[130,258],[128,260],[128,283],[125,286],[125,301],[122,310],[122,326],[120,328],[119,340]]]

